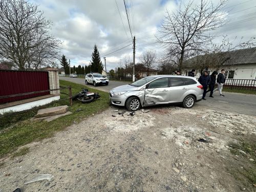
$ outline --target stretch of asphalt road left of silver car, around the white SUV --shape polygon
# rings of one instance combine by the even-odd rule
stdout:
[[[72,81],[79,84],[85,85],[83,78],[72,78],[72,77],[59,77],[59,79],[66,80],[66,81]],[[129,82],[123,82],[123,81],[110,81],[108,86],[97,86],[94,87],[92,84],[88,85],[88,87],[92,87],[94,89],[98,89],[100,91],[109,92],[111,89],[116,88],[118,86],[122,86],[124,84],[128,84]]]

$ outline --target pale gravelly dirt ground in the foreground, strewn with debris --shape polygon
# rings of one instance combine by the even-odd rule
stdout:
[[[253,159],[230,153],[240,139],[256,142],[255,116],[199,105],[149,109],[131,116],[109,108],[26,145],[28,154],[2,161],[0,191],[255,191],[234,174],[255,168]],[[24,184],[40,174],[54,180]]]

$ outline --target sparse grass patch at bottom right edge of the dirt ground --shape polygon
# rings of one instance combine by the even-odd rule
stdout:
[[[246,163],[242,168],[233,169],[232,175],[239,180],[244,180],[243,177],[247,178],[252,184],[256,183],[256,144],[247,143],[241,140],[240,144],[229,144],[230,152],[234,155],[243,155]],[[246,154],[239,152],[239,150],[244,151]],[[250,161],[249,158],[254,159]],[[243,177],[241,177],[243,176]]]

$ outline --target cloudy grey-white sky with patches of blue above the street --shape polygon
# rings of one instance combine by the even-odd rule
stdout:
[[[63,42],[61,52],[71,60],[71,66],[88,65],[96,44],[102,61],[106,55],[107,71],[117,67],[125,56],[133,58],[133,46],[130,44],[134,35],[136,62],[145,50],[155,50],[160,57],[162,49],[156,43],[155,36],[159,35],[165,11],[175,11],[180,1],[126,0],[131,35],[123,0],[30,0],[39,5],[47,19],[52,20],[51,32]],[[228,22],[215,31],[216,34],[228,35],[230,40],[236,36],[238,39],[256,37],[256,0],[229,0],[224,10]],[[217,38],[215,42],[220,42],[220,39]]]

